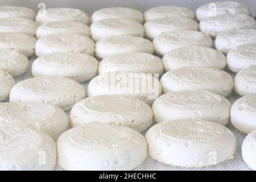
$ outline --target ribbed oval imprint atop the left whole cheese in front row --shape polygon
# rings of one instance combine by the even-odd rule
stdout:
[[[69,140],[85,148],[114,148],[133,138],[133,131],[118,125],[85,124],[69,133]]]

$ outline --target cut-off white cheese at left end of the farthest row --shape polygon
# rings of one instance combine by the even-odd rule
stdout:
[[[28,7],[0,6],[0,18],[27,18],[34,20],[36,13]]]

